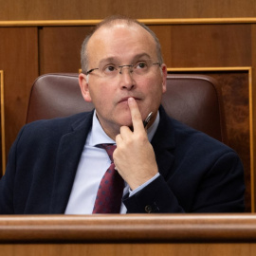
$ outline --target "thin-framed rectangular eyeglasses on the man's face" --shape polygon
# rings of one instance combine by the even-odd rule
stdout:
[[[136,64],[100,64],[97,68],[92,68],[85,72],[86,75],[89,75],[94,70],[99,70],[102,77],[114,78],[118,74],[122,74],[122,69],[127,67],[130,74],[144,76],[149,73],[153,65],[161,66],[160,63],[153,63],[151,60],[138,61]]]

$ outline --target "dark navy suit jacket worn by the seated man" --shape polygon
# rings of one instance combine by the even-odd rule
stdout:
[[[23,127],[0,181],[0,213],[64,213],[92,117],[82,113]],[[152,144],[160,176],[123,199],[128,212],[244,210],[243,166],[229,147],[170,119],[161,107]]]

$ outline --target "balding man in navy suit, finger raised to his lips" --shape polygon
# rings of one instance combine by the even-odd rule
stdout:
[[[83,42],[79,77],[95,111],[21,130],[0,181],[0,213],[92,213],[111,163],[101,144],[117,144],[120,213],[243,211],[238,155],[166,115],[166,76],[148,27],[122,17],[103,21]]]

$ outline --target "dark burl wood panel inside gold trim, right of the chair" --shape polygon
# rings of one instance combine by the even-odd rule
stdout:
[[[189,73],[189,72],[182,72]],[[221,87],[227,144],[240,156],[245,170],[246,211],[251,211],[251,165],[249,135],[249,73],[246,70],[196,71],[214,78]],[[254,203],[255,204],[255,203]]]

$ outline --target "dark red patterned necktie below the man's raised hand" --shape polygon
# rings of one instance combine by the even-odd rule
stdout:
[[[113,161],[113,152],[116,145],[101,144],[111,160],[111,165],[101,179],[101,184],[97,192],[93,213],[119,213],[121,206],[121,197],[124,187],[124,181],[115,170]]]

